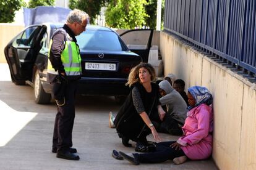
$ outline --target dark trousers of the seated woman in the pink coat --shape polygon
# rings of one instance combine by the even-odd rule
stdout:
[[[170,147],[175,141],[160,142],[156,145],[156,151],[150,153],[134,153],[134,157],[139,160],[140,163],[161,163],[167,160],[173,160],[179,156],[185,156],[183,150],[175,150]]]

